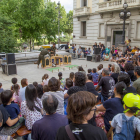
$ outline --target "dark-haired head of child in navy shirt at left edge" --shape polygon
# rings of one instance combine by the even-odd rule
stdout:
[[[8,103],[11,103],[13,99],[13,93],[11,90],[5,90],[1,93],[1,101],[4,106],[6,106]]]

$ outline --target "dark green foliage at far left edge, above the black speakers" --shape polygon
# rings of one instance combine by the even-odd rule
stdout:
[[[17,52],[14,22],[7,16],[0,16],[0,52]]]

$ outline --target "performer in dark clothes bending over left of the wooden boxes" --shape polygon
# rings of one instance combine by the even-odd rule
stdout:
[[[51,52],[50,52],[50,49],[44,49],[41,51],[41,53],[39,54],[39,58],[38,58],[38,68],[39,68],[39,64],[40,64],[40,61],[42,60],[42,65],[43,65],[43,68],[45,67],[45,58],[44,56],[45,55],[49,55],[51,57]]]

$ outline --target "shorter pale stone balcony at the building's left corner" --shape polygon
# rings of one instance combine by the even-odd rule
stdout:
[[[74,17],[81,17],[81,16],[88,16],[91,13],[91,8],[90,7],[80,7],[74,9],[73,16]]]

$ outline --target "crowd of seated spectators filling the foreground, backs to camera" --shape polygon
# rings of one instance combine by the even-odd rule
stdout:
[[[119,58],[87,71],[79,67],[66,79],[62,72],[44,74],[42,83],[11,81],[10,90],[0,83],[0,138],[22,125],[31,130],[25,140],[107,140],[113,129],[115,140],[132,140],[136,130],[140,133],[140,66],[132,61]]]

